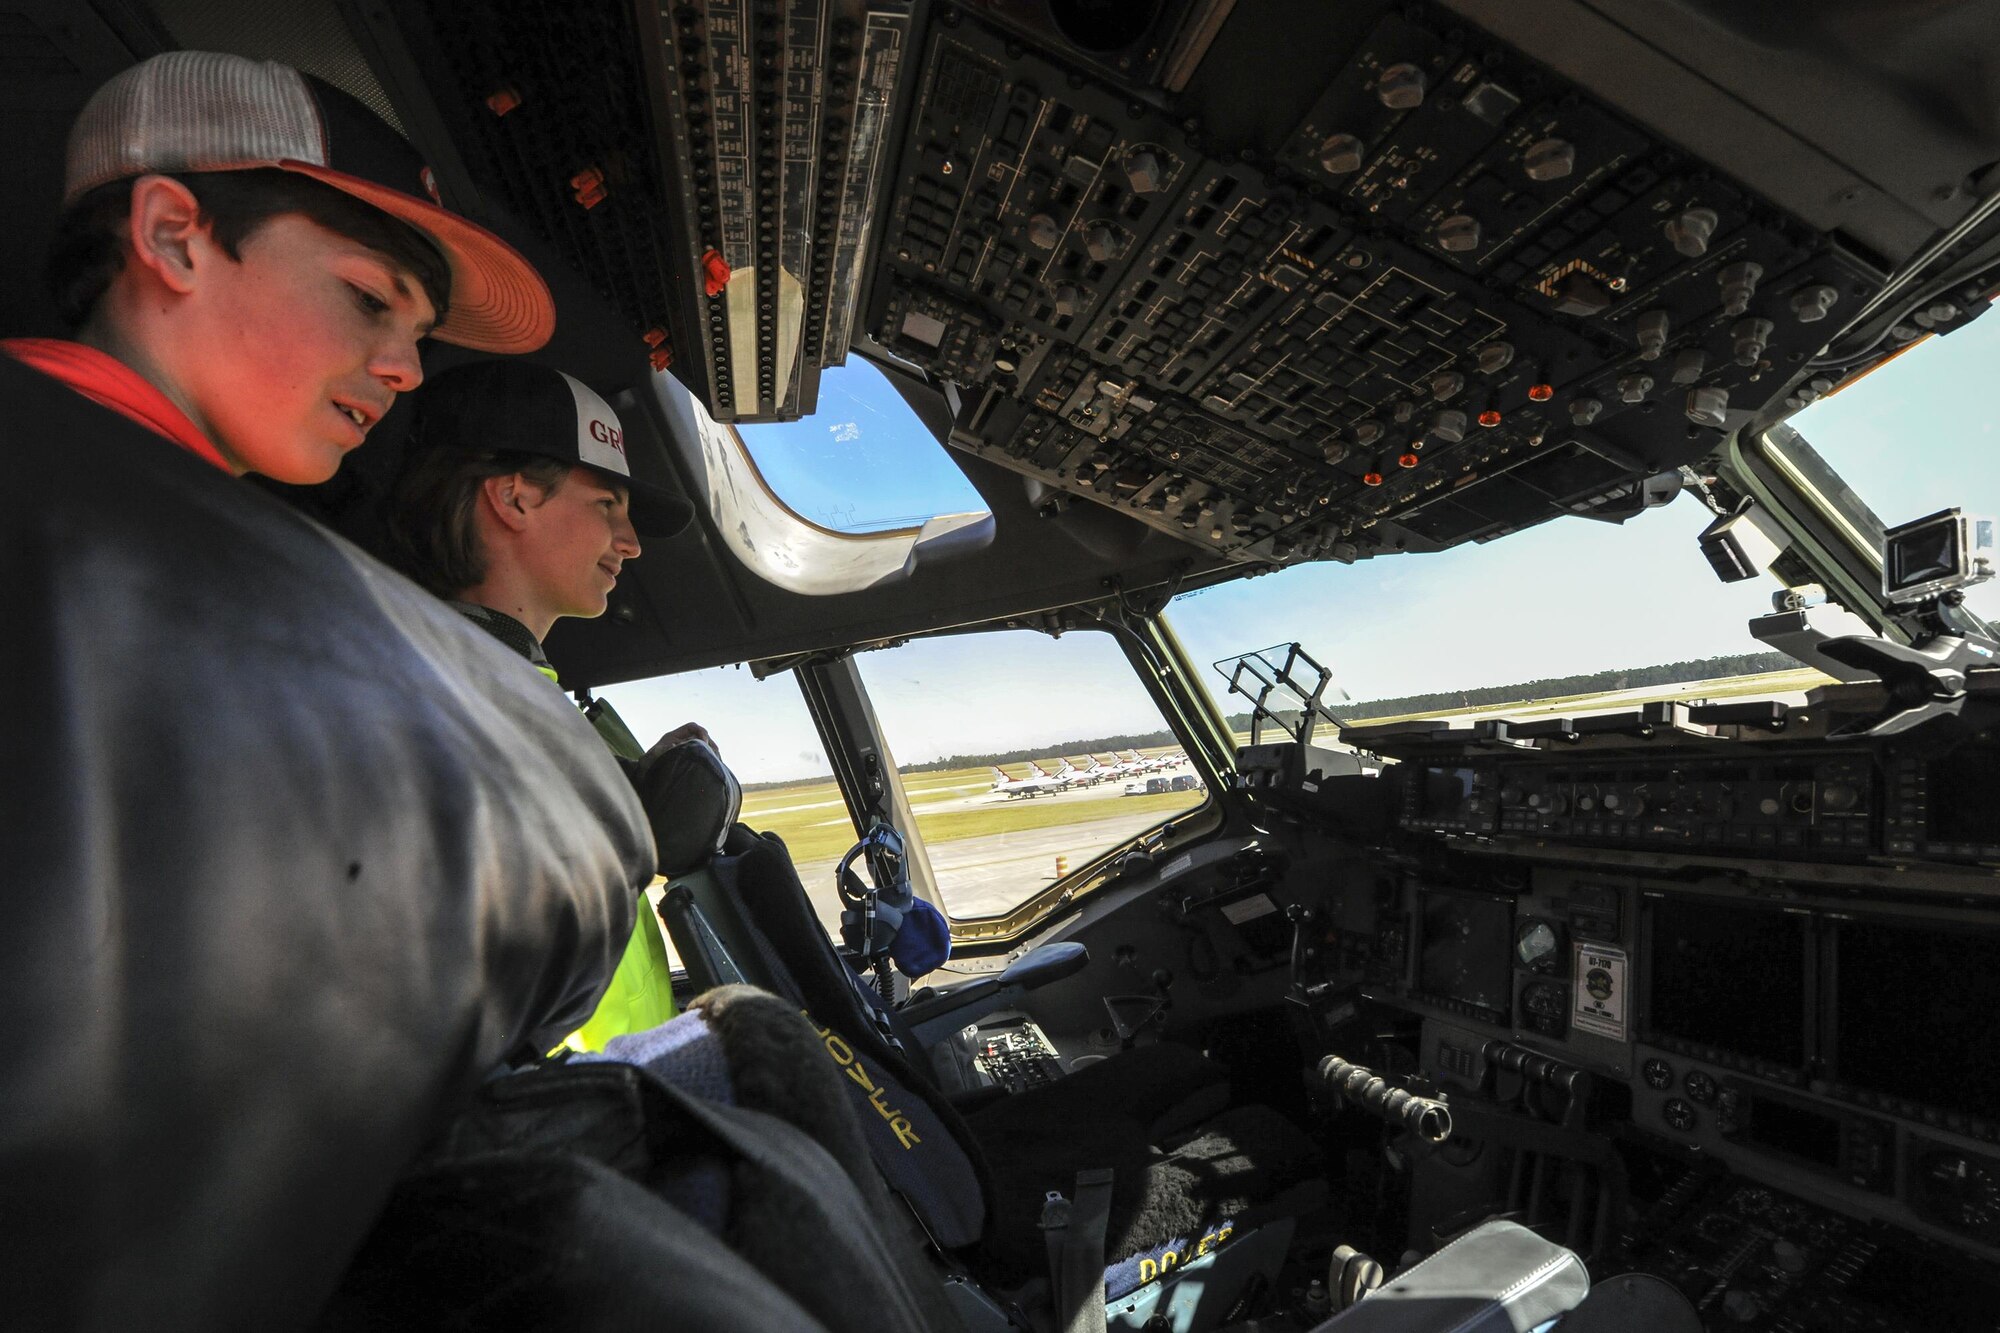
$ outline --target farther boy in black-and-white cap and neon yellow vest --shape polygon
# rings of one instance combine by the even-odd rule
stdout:
[[[522,360],[490,360],[432,380],[418,394],[410,452],[390,496],[390,562],[446,598],[556,681],[542,640],[562,616],[604,614],[640,536],[672,536],[684,498],[632,476],[624,424],[582,380]],[[616,727],[622,733],[622,725]],[[688,723],[640,757],[634,777],[684,741],[714,745]],[[640,911],[598,1011],[568,1045],[602,1051],[620,1033],[674,1017],[666,941]]]

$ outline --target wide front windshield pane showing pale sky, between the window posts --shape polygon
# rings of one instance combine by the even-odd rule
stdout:
[[[1504,540],[1358,564],[1308,564],[1182,594],[1168,610],[1198,662],[1300,640],[1348,703],[1342,719],[1576,709],[1580,695],[1716,699],[1810,689],[1818,673],[1768,652],[1746,622],[1772,608],[1770,576],[1724,584],[1696,546],[1714,520],[1696,492],[1624,526],[1558,518]],[[1740,677],[1786,673],[1780,681]],[[1210,675],[1222,699],[1226,683]],[[1628,693],[1634,691],[1634,693]],[[1224,701],[1240,733],[1248,709]],[[1318,743],[1318,737],[1316,737]]]

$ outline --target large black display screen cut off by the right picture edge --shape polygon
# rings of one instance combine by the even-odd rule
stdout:
[[[1834,939],[1834,1077],[2000,1121],[2000,933],[1842,921]]]

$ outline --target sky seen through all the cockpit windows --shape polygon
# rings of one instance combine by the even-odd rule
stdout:
[[[1934,338],[1792,424],[1884,522],[1950,504],[1994,514],[1996,378],[2000,314]],[[858,360],[828,372],[812,418],[746,426],[744,438],[772,488],[826,526],[980,506],[946,450]],[[1706,520],[1692,496],[1624,526],[1558,518],[1486,546],[1248,578],[1178,598],[1168,616],[1204,666],[1298,638],[1354,699],[1758,650],[1744,622],[1770,608],[1778,584],[1718,582],[1694,546]],[[2000,616],[2000,586],[1980,588],[1974,604]],[[906,763],[1158,725],[1094,634],[914,642],[864,656],[862,675]],[[1208,685],[1224,689],[1214,673]],[[722,669],[618,687],[612,699],[640,735],[702,721],[744,781],[826,773],[790,677],[758,683]]]

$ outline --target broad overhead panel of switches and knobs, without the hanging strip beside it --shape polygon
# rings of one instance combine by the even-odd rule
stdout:
[[[1284,52],[1268,96],[1122,80],[1034,4],[934,8],[862,326],[954,386],[956,448],[1224,558],[1622,504],[1878,280],[1460,18],[1134,8],[1226,10],[1218,50]]]

